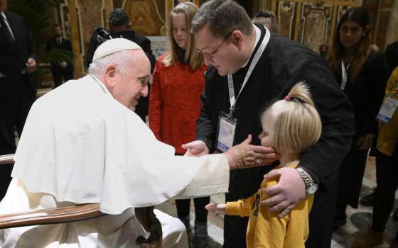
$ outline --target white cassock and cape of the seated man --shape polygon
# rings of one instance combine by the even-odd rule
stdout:
[[[38,98],[14,159],[0,214],[100,203],[109,215],[0,230],[0,247],[136,247],[145,232],[133,208],[223,193],[229,181],[225,156],[174,156],[90,74]],[[173,233],[179,220],[156,215],[163,247],[187,245],[185,233]]]

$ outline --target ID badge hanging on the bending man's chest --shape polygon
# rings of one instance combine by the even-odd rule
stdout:
[[[227,113],[220,112],[217,130],[217,150],[227,152],[234,143],[237,119]]]

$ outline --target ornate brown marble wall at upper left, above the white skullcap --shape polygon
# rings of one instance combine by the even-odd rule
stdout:
[[[184,0],[64,0],[59,13],[65,37],[72,40],[75,77],[87,73],[83,61],[92,31],[100,26],[108,28],[107,19],[112,9],[127,11],[131,28],[139,33],[165,35],[166,16],[181,1]],[[199,0],[193,2],[200,4]]]

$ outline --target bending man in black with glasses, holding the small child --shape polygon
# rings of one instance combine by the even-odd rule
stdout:
[[[257,135],[262,133],[262,108],[274,98],[283,99],[298,81],[305,81],[321,116],[321,138],[303,152],[298,164],[301,168],[270,171],[273,166],[268,166],[230,171],[225,201],[257,192],[264,174],[267,181],[279,182],[262,189],[269,196],[262,201],[262,209],[279,213],[279,217],[286,216],[307,194],[316,193],[306,248],[330,248],[338,171],[350,148],[354,115],[328,64],[305,45],[253,24],[242,6],[232,0],[206,1],[195,14],[191,30],[209,67],[196,140],[183,145],[186,155],[220,152],[249,134],[251,144],[260,145]],[[222,133],[226,127],[235,128],[235,132]],[[257,164],[276,159],[275,151],[268,148],[268,159],[258,159]],[[247,220],[225,215],[225,248],[246,247]]]

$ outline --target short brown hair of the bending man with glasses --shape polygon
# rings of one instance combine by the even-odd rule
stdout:
[[[212,0],[203,4],[192,20],[191,33],[208,27],[215,37],[225,38],[233,30],[240,30],[244,35],[251,35],[252,21],[246,11],[232,0]]]

